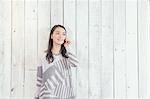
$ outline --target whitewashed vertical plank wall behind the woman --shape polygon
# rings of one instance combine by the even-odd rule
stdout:
[[[63,24],[77,99],[150,99],[149,0],[0,0],[0,99],[34,99],[36,64]]]

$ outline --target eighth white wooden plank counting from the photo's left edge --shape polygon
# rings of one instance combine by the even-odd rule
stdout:
[[[101,99],[102,2],[89,0],[89,98]],[[88,34],[87,34],[88,36]]]

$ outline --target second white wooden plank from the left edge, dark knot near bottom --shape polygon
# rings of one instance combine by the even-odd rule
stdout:
[[[12,0],[11,98],[24,98],[24,0]]]

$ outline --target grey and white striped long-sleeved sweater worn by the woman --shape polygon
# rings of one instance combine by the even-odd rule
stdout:
[[[44,55],[37,67],[37,91],[35,99],[75,99],[72,86],[71,67],[77,67],[78,59],[67,48],[69,58],[53,55],[48,64]]]

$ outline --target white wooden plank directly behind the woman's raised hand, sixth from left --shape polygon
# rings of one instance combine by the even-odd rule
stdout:
[[[71,39],[71,48],[76,52],[76,9],[75,0],[64,0],[64,26],[67,36]],[[77,68],[72,68],[72,82],[75,94],[77,93]]]

